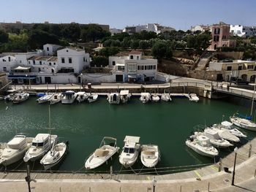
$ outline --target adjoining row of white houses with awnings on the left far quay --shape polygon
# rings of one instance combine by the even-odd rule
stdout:
[[[58,50],[57,56],[44,56],[42,51],[6,55],[0,58],[0,72],[9,72],[8,78],[14,83],[76,83],[89,64],[88,53],[67,47]]]

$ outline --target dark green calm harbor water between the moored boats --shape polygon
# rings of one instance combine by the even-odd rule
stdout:
[[[31,97],[22,104],[0,102],[1,142],[12,139],[16,129],[30,137],[48,132],[48,104],[37,104],[35,100],[36,97]],[[197,155],[184,142],[196,125],[219,123],[222,115],[227,119],[236,111],[248,114],[250,102],[201,98],[198,103],[193,103],[188,99],[173,98],[170,103],[142,104],[138,98],[132,98],[129,104],[110,105],[105,98],[100,98],[91,104],[56,104],[50,107],[52,133],[62,140],[69,140],[69,153],[58,169],[81,169],[85,159],[99,147],[102,137],[116,137],[118,146],[123,147],[126,135],[140,136],[142,144],[159,145],[161,161],[158,167],[213,163],[214,159]],[[244,132],[248,139],[256,136],[252,131]],[[233,148],[222,150],[220,156],[231,150]],[[118,155],[98,170],[109,170],[110,164],[115,171],[121,168]],[[141,166],[138,162],[134,169]],[[21,164],[17,169],[25,169],[25,165]],[[42,166],[37,163],[33,169],[42,169]]]

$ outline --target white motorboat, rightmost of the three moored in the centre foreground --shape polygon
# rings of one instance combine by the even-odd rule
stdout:
[[[154,167],[160,161],[160,152],[157,145],[141,145],[141,163],[148,167]]]

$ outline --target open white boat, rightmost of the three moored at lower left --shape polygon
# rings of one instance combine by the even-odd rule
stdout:
[[[61,160],[67,154],[68,145],[69,142],[59,142],[58,144],[53,145],[53,147],[40,161],[40,164],[44,166],[45,170],[48,170],[61,162]]]

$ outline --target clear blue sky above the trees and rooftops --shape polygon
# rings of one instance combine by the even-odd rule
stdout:
[[[7,0],[0,22],[101,23],[124,28],[146,23],[187,30],[197,24],[256,26],[255,0]]]

